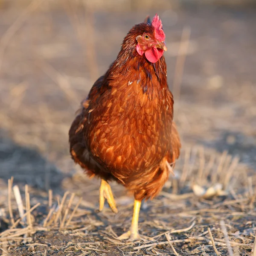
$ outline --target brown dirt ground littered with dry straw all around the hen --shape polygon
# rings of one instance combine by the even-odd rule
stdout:
[[[140,233],[151,240],[132,243],[116,236],[129,228],[133,198],[111,183],[119,213],[107,205],[97,212],[99,180],[89,180],[74,165],[67,134],[79,103],[116,58],[128,30],[156,11],[166,34],[168,81],[182,154],[175,177],[160,196],[143,203]],[[64,4],[58,9],[1,9],[0,253],[207,256],[217,255],[215,244],[222,256],[253,255],[254,24],[253,7],[91,12]],[[175,87],[180,40],[189,31],[182,82]],[[25,185],[31,207],[40,203],[17,225],[9,210],[18,220],[19,201],[8,191],[12,176],[25,209]]]

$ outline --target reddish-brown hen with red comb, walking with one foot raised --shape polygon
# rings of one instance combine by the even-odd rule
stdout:
[[[99,210],[105,198],[117,212],[109,180],[134,194],[131,228],[119,239],[139,239],[143,199],[162,189],[180,154],[173,122],[173,96],[167,84],[167,50],[162,22],[135,25],[116,60],[82,102],[69,131],[70,154],[90,176],[101,178]]]

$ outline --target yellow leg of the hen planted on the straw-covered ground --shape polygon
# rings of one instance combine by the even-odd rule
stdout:
[[[132,220],[131,220],[131,228],[128,232],[119,236],[118,239],[129,239],[130,241],[140,239],[140,235],[139,235],[139,231],[138,231],[140,205],[141,205],[141,201],[135,199],[134,200],[134,213],[133,213]]]

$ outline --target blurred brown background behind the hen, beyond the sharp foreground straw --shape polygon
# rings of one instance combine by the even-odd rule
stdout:
[[[99,181],[70,159],[68,130],[129,29],[156,12],[183,152],[224,151],[256,170],[255,1],[0,0],[0,205],[11,176],[34,195],[97,201]]]

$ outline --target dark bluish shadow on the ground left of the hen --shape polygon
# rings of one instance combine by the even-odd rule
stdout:
[[[8,183],[12,176],[20,187],[28,184],[35,189],[59,193],[65,174],[36,148],[18,145],[0,129],[0,179]]]

